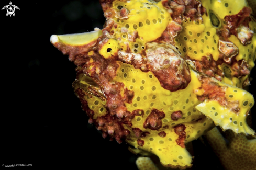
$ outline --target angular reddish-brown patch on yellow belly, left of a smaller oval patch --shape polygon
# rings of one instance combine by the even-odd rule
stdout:
[[[164,112],[157,109],[152,109],[150,115],[145,120],[143,127],[145,129],[149,128],[151,130],[157,130],[162,127],[162,118],[165,117]]]

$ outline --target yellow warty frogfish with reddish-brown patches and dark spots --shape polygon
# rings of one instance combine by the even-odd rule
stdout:
[[[77,65],[89,123],[135,154],[185,169],[185,144],[215,126],[255,136],[246,117],[256,23],[244,0],[100,0],[103,30],[51,37]],[[239,3],[239,5],[237,5]]]

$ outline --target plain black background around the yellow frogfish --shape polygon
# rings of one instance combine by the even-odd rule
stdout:
[[[9,1],[1,1],[0,7]],[[53,34],[102,29],[105,17],[99,2],[12,3],[20,8],[15,9],[16,16],[7,17],[6,9],[0,10],[0,153],[4,157],[0,163],[137,169],[137,155],[127,150],[125,142],[103,139],[101,132],[88,124],[71,87],[76,76],[75,65],[50,43]],[[251,84],[250,88],[255,88],[254,81]],[[199,140],[193,141],[193,145],[193,169],[205,169],[205,164],[222,169],[209,147]]]

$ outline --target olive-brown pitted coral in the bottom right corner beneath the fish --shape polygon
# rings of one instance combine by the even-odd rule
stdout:
[[[217,128],[205,135],[225,169],[255,169],[256,139],[247,139],[242,134],[235,135],[230,131],[226,134],[229,143]]]

